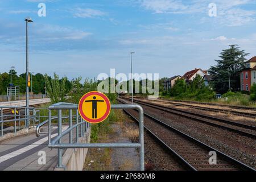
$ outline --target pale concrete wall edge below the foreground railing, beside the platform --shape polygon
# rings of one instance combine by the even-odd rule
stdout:
[[[90,143],[90,129],[84,138],[79,138],[79,143]],[[88,148],[68,148],[63,155],[65,169],[55,168],[55,171],[82,171]]]

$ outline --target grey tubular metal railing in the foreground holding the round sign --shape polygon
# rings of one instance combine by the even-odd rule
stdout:
[[[140,156],[140,169],[144,171],[144,134],[143,134],[143,109],[139,105],[112,105],[111,109],[137,109],[139,111],[139,143],[79,143],[79,131],[80,136],[84,137],[87,129],[90,127],[90,124],[79,116],[78,105],[59,103],[49,106],[48,121],[40,123],[38,127],[38,134],[40,134],[40,127],[48,123],[48,147],[58,149],[58,163],[57,168],[65,168],[62,163],[62,155],[64,148],[139,148]],[[57,137],[52,139],[52,110],[57,110]],[[62,111],[69,110],[69,128],[65,131],[62,131],[62,122],[63,116]],[[73,125],[73,115],[72,111],[76,110],[76,124]],[[79,122],[80,121],[80,122]],[[80,127],[80,130],[79,130]],[[73,143],[73,133],[72,131],[76,129],[76,142]],[[61,139],[69,134],[69,143],[63,143]]]

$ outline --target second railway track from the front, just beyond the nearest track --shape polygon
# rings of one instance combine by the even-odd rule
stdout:
[[[129,98],[124,98],[124,99],[127,101],[130,101]],[[209,115],[192,113],[191,111],[176,109],[173,107],[152,104],[152,103],[148,103],[148,102],[144,102],[144,101],[139,101],[138,99],[134,99],[134,102],[137,102],[138,104],[141,104],[141,105],[152,107],[154,109],[166,111],[171,114],[179,115],[181,117],[193,119],[195,121],[205,123],[205,124],[208,124],[211,126],[220,127],[222,129],[226,129],[226,130],[232,131],[234,133],[238,133],[243,136],[256,139],[256,135],[255,135],[256,127],[255,126],[245,125],[243,123],[237,123],[237,122],[229,121],[227,119],[216,118],[216,117],[212,117]]]

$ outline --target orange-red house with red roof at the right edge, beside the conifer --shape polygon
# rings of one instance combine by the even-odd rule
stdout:
[[[240,71],[241,90],[251,90],[251,85],[256,84],[256,56],[245,62],[245,69]]]

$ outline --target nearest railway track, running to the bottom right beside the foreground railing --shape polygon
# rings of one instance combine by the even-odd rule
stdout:
[[[126,104],[124,101],[119,102]],[[138,122],[137,110],[124,110]],[[250,170],[254,168],[216,150],[207,144],[167,125],[166,123],[144,113],[144,129],[152,135],[155,140],[160,142],[172,155],[175,155],[179,162],[185,168],[193,171],[232,171],[232,170]],[[209,152],[215,151],[217,154],[217,164],[209,164]]]

